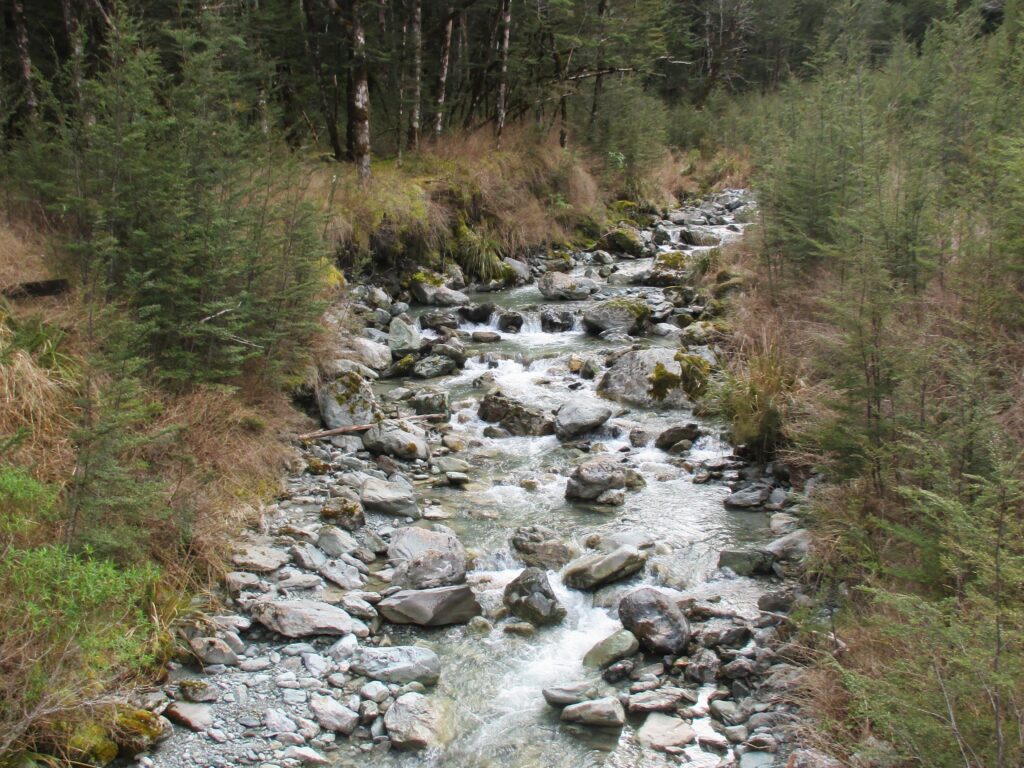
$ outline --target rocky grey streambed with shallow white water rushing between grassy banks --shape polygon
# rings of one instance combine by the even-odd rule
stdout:
[[[315,393],[336,433],[177,628],[137,764],[831,765],[797,749],[800,495],[687,395],[738,282],[694,270],[753,206],[352,289]]]

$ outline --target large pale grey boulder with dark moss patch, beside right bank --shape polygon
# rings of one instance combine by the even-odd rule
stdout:
[[[679,386],[680,371],[673,349],[631,350],[605,371],[597,391],[609,399],[645,408],[686,408],[689,400]]]

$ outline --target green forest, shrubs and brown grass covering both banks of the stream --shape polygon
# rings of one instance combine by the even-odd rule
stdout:
[[[1024,3],[0,9],[0,763],[113,759],[351,286],[726,187],[700,409],[806,488],[809,739],[1024,760]]]

